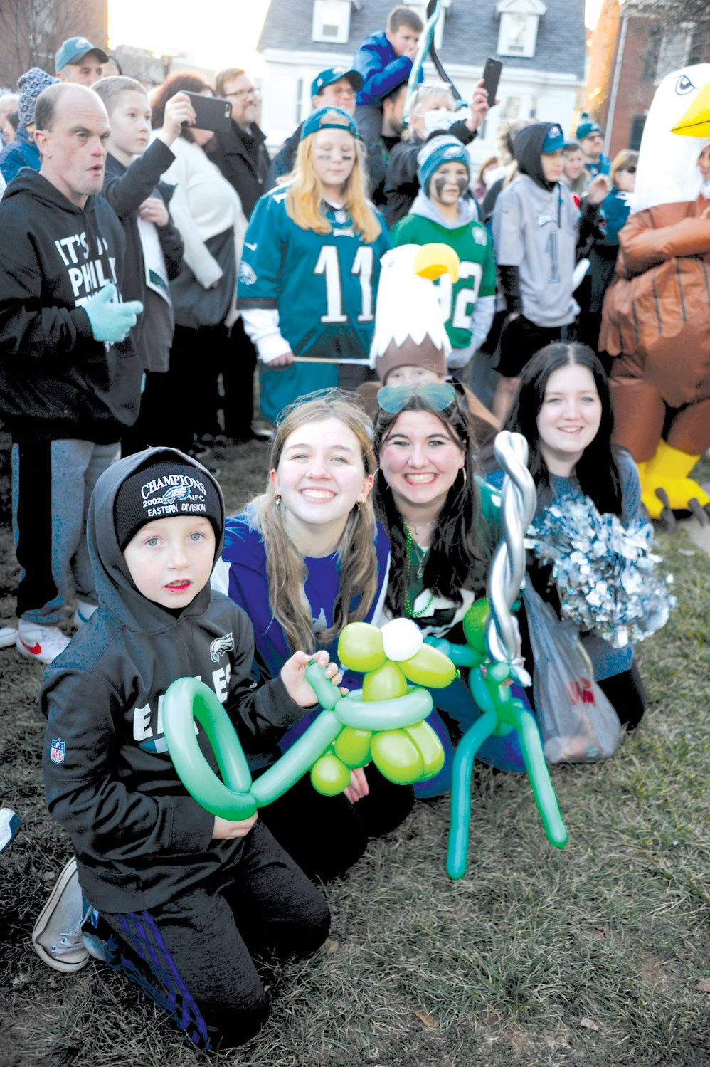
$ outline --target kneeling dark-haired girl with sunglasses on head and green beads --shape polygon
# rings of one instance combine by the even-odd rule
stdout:
[[[485,595],[488,561],[498,543],[498,507],[477,478],[478,445],[459,388],[449,382],[414,381],[377,394],[375,449],[380,468],[375,506],[389,534],[389,616],[408,616],[424,636],[466,643],[463,620]],[[464,672],[465,674],[465,672]],[[417,796],[449,789],[452,739],[480,715],[466,676],[433,690],[429,723],[447,752],[443,770],[415,785]],[[522,770],[515,737],[490,737],[479,759]]]

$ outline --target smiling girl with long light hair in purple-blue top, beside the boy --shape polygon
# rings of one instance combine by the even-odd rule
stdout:
[[[260,679],[277,678],[292,649],[335,655],[349,622],[376,623],[389,558],[370,495],[372,424],[346,394],[314,394],[281,412],[265,492],[227,519],[212,578],[254,624]],[[346,672],[342,684],[358,688],[361,678]],[[281,750],[319,712],[281,738]],[[368,838],[399,826],[413,801],[410,787],[370,765],[353,771],[339,797],[321,796],[306,776],[259,814],[306,874],[327,880],[362,855]]]

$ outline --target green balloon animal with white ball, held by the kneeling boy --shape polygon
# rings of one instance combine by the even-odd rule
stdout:
[[[367,622],[346,625],[338,658],[365,673],[361,689],[343,696],[311,663],[306,678],[323,711],[305,733],[255,782],[235,728],[214,692],[193,678],[173,682],[163,702],[167,751],[180,781],[203,808],[222,818],[243,819],[278,799],[310,770],[326,796],[342,793],[351,770],[372,761],[398,784],[425,781],[443,766],[443,749],[424,720],[431,694],[456,676],[441,652],[423,643],[410,619],[393,619],[382,630]],[[222,776],[217,778],[195,736],[204,729]]]

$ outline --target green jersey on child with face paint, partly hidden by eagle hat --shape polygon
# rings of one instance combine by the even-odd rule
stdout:
[[[420,214],[407,214],[392,227],[392,243],[448,244],[461,264],[458,281],[452,286],[448,274],[442,274],[436,285],[445,312],[446,328],[452,348],[466,348],[471,344],[471,314],[479,297],[493,297],[496,292],[496,267],[490,239],[480,222],[468,222],[457,229],[449,229]]]

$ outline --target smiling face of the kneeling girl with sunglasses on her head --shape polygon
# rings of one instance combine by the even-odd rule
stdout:
[[[431,411],[403,411],[382,442],[380,465],[399,511],[441,510],[466,460],[453,431]]]

